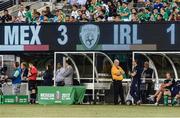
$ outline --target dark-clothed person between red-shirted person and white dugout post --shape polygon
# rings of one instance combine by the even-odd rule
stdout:
[[[44,86],[52,86],[53,69],[51,65],[46,66],[46,71],[43,74]]]

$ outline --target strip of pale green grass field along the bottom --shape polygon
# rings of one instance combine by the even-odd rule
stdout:
[[[180,118],[180,107],[121,105],[0,105],[0,117]]]

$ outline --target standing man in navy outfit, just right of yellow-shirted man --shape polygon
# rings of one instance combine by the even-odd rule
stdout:
[[[142,69],[137,65],[136,61],[133,61],[133,70],[130,73],[132,77],[130,94],[134,99],[134,103],[140,105],[140,83],[141,83]]]

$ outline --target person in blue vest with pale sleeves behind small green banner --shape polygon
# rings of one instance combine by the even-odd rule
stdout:
[[[14,73],[13,76],[10,77],[12,79],[12,93],[13,95],[20,94],[20,87],[21,87],[21,68],[19,67],[19,62],[14,63]]]

